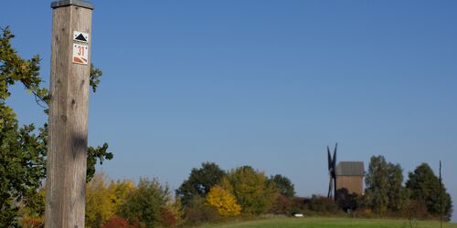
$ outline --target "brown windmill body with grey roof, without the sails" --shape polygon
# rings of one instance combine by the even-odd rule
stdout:
[[[364,162],[341,161],[336,166],[336,189],[347,189],[348,193],[358,195],[364,192]]]

